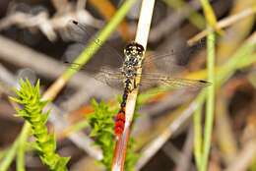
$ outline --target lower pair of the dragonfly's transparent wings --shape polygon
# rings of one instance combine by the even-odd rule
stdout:
[[[68,63],[68,65],[74,70],[78,70],[78,68],[80,68],[80,65],[76,63]],[[120,68],[114,70],[113,68],[105,66],[100,69],[93,69],[85,66],[82,67],[81,70],[86,70],[91,77],[105,85],[109,85],[117,89],[123,88],[123,81],[125,78],[121,74]],[[143,73],[141,75],[140,90],[145,91],[154,86],[158,86],[159,91],[164,91],[170,88],[189,88],[197,90],[207,85],[211,84],[203,80],[170,78],[162,75],[161,73]]]

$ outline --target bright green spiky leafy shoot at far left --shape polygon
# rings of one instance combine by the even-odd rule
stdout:
[[[69,157],[60,157],[54,152],[56,149],[55,135],[54,133],[47,134],[45,123],[50,110],[42,113],[42,109],[48,101],[41,101],[39,81],[32,86],[28,79],[26,79],[26,83],[21,80],[20,86],[20,90],[14,89],[19,97],[10,97],[24,106],[24,110],[16,109],[15,116],[24,117],[32,125],[32,135],[36,140],[32,142],[32,146],[37,150],[43,164],[51,171],[66,171]]]

